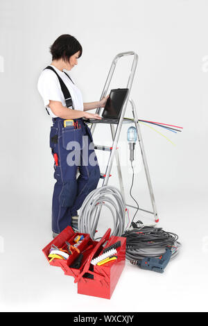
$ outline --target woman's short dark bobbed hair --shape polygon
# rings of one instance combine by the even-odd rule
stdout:
[[[78,51],[80,51],[80,58],[83,53],[83,48],[78,40],[69,34],[60,35],[50,46],[52,60],[62,58],[64,61],[69,61],[71,55],[77,53]]]

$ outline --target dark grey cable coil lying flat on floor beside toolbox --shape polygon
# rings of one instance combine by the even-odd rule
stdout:
[[[172,257],[177,255],[180,248],[178,236],[172,232],[166,232],[162,228],[139,224],[136,228],[126,231],[122,237],[126,238],[126,259],[138,261],[144,257],[160,257],[169,247]],[[171,258],[172,258],[171,257]]]

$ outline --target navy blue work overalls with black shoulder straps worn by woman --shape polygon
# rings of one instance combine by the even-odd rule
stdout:
[[[67,91],[68,94],[62,89],[64,98],[71,105],[71,96],[68,89]],[[67,225],[71,225],[71,216],[78,214],[78,209],[86,196],[96,189],[101,176],[91,131],[83,119],[73,119],[73,122],[76,128],[64,128],[64,119],[53,118],[50,132],[50,147],[53,157],[56,157],[52,203],[52,230],[55,233],[60,233]],[[77,172],[80,173],[78,178]]]

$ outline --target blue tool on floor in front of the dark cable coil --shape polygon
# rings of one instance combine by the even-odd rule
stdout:
[[[142,260],[137,261],[137,266],[148,269],[149,271],[155,271],[157,273],[163,273],[164,268],[166,268],[168,262],[171,259],[172,250],[170,248],[166,248],[166,252],[164,255],[159,258],[155,257],[146,257]]]

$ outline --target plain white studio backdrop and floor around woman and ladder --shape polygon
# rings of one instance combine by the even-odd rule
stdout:
[[[1,0],[1,311],[208,310],[207,12],[205,0]],[[111,300],[78,295],[73,278],[49,266],[41,251],[51,241],[54,180],[51,119],[37,78],[51,63],[49,46],[64,33],[83,45],[70,74],[84,101],[98,101],[117,53],[135,51],[139,62],[131,96],[139,117],[184,127],[177,135],[157,128],[174,146],[141,126],[159,226],[179,234],[180,255],[163,275],[127,261]],[[113,86],[125,86],[127,62],[119,62]],[[108,141],[106,135],[110,141],[110,129],[99,128],[95,143]],[[126,132],[123,128],[122,141]],[[129,155],[128,147],[122,154]],[[134,164],[141,166],[138,145]],[[151,209],[144,171],[137,170],[133,194]],[[129,163],[123,177],[134,205]],[[110,184],[119,185],[116,173],[112,178]],[[153,221],[150,217],[138,214],[144,222]],[[101,219],[104,231],[110,217]]]

